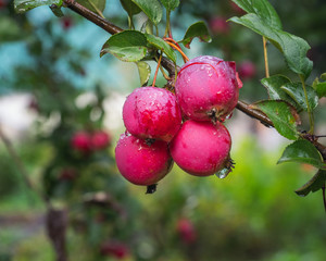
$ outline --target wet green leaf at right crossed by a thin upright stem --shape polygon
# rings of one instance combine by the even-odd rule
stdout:
[[[308,111],[304,91],[301,83],[285,84],[281,89],[286,91],[304,111]],[[305,86],[308,102],[313,110],[318,104],[318,97],[316,91],[309,85]]]

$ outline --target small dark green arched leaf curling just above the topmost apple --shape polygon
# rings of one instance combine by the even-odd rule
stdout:
[[[211,42],[212,37],[210,36],[209,29],[204,22],[197,22],[187,29],[184,39],[181,40],[183,45],[186,48],[190,48],[190,44],[195,37],[198,37],[200,40],[205,42]]]

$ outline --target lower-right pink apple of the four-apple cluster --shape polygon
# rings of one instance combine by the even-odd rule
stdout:
[[[175,163],[195,176],[209,176],[229,165],[231,138],[220,122],[189,120],[170,144]]]

